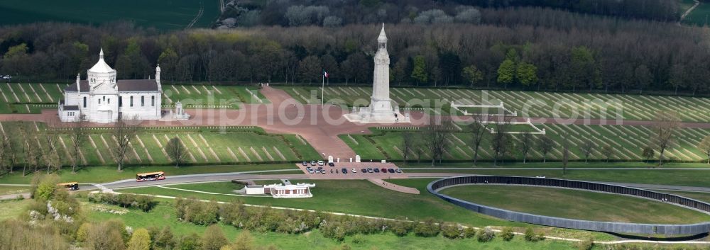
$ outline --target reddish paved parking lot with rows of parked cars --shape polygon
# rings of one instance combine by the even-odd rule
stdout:
[[[316,164],[315,166],[312,166],[310,164],[310,161],[308,161],[307,166],[303,166],[302,164],[296,164],[303,173],[305,173],[309,178],[312,179],[367,179],[367,178],[378,178],[378,179],[387,179],[387,178],[406,178],[406,176],[403,173],[383,173],[382,171],[379,171],[379,173],[375,173],[374,169],[399,169],[399,167],[393,163],[381,163],[381,162],[335,162],[335,166],[328,166],[328,163],[325,162],[323,166],[320,166]],[[310,174],[307,171],[307,167],[310,167],[311,169],[318,169],[319,167],[322,167],[325,174],[322,173],[313,173]],[[371,168],[373,169],[372,173],[363,173],[362,169],[368,169]],[[343,174],[342,169],[347,169],[347,174]],[[353,169],[356,170],[356,172],[353,172]]]

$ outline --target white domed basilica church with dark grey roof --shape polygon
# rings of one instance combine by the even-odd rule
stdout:
[[[116,70],[104,62],[104,50],[99,62],[87,70],[87,79],[80,79],[64,89],[58,115],[62,122],[87,120],[93,123],[113,123],[119,118],[159,120],[161,117],[160,65],[155,67],[155,79],[116,80]]]

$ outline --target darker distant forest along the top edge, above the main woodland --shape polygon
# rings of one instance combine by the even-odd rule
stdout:
[[[578,13],[676,21],[677,0],[230,0],[215,27],[337,27],[365,23],[474,23],[478,8],[537,6]]]

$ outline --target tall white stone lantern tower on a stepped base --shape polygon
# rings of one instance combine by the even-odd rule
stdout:
[[[387,52],[385,25],[377,38],[377,52],[374,57],[372,96],[370,106],[353,108],[345,118],[358,123],[409,123],[409,116],[399,112],[399,106],[393,105],[390,98],[390,55]]]

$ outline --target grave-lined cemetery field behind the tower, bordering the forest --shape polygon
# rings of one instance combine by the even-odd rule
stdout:
[[[320,88],[317,87],[282,86],[280,89],[302,103],[320,102]],[[325,99],[334,103],[367,106],[371,93],[372,88],[369,87],[331,86],[325,89]],[[710,122],[710,110],[704,108],[710,105],[710,98],[416,88],[391,88],[390,95],[400,107],[407,106],[407,103],[419,103],[417,100],[439,101],[438,105],[434,104],[435,101],[429,101],[415,106],[423,107],[430,113],[439,112],[431,110],[432,107],[442,107],[441,113],[448,113],[446,104],[452,101],[457,104],[486,105],[497,105],[502,101],[506,108],[529,117],[552,118],[555,117],[553,111],[559,110],[557,114],[560,118],[584,118],[585,112],[589,112],[589,118],[615,119],[619,116],[626,120],[652,120],[658,110],[671,108],[684,121]],[[556,107],[555,103],[559,103],[559,106]]]

